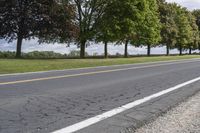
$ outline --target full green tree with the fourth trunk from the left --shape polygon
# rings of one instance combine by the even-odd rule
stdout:
[[[124,57],[128,57],[128,44],[132,45],[140,42],[138,32],[143,27],[146,13],[146,0],[123,0],[118,1],[118,7],[115,9],[122,10],[118,14],[119,41],[125,44]]]

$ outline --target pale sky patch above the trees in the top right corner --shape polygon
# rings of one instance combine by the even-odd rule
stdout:
[[[167,2],[176,2],[189,10],[200,9],[200,0],[166,0]]]

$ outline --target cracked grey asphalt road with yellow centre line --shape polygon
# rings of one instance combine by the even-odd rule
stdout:
[[[1,75],[0,132],[53,132],[199,76],[200,59]],[[171,106],[199,86],[197,81],[174,92],[181,98],[173,102],[159,99]],[[98,123],[78,132],[95,128]]]

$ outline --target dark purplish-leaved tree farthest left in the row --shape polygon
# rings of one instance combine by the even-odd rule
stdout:
[[[69,9],[66,4],[56,0],[0,1],[0,39],[6,39],[8,42],[17,40],[16,57],[20,58],[23,39],[44,39],[45,35],[53,39],[61,34],[71,35],[66,29],[70,25],[70,21],[67,22],[70,17],[60,14],[64,6]]]

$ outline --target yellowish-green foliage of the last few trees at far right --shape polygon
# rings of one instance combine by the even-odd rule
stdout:
[[[162,43],[167,46],[167,51],[170,48],[178,48],[182,54],[184,49],[191,51],[198,47],[199,31],[196,18],[190,11],[176,3],[163,1],[159,2],[159,12],[162,23]]]

